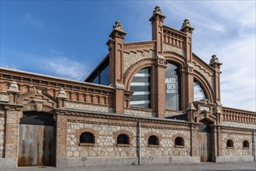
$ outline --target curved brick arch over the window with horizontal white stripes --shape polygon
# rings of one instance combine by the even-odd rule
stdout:
[[[140,61],[137,61],[135,64],[131,65],[125,74],[124,74],[124,88],[127,90],[130,90],[131,82],[134,77],[134,75],[139,72],[142,68],[148,68],[155,65],[155,60],[153,59],[142,59]]]

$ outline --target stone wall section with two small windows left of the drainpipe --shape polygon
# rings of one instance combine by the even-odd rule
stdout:
[[[82,132],[95,136],[94,145],[79,145]],[[128,134],[130,145],[117,145],[118,134]],[[68,122],[68,157],[136,156],[136,127]]]

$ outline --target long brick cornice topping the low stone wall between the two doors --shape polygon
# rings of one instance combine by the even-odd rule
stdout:
[[[125,114],[116,114],[116,113],[103,113],[103,112],[95,112],[88,110],[63,110],[63,109],[54,109],[55,113],[58,115],[66,115],[66,116],[75,116],[75,117],[93,117],[93,118],[102,118],[102,119],[110,119],[110,120],[127,120],[127,121],[141,121],[144,123],[153,123],[153,124],[172,124],[172,125],[182,125],[182,126],[190,126],[190,122],[186,122],[183,120],[168,120],[168,119],[160,119],[157,117],[154,118],[146,118],[146,117],[135,117],[129,116]]]

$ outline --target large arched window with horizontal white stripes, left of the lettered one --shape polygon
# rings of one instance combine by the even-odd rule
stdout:
[[[150,68],[143,68],[135,74],[130,90],[133,92],[131,106],[150,107]]]

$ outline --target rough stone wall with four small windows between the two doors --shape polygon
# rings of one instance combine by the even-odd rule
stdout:
[[[96,121],[96,120],[95,120]],[[68,122],[67,124],[66,156],[72,157],[137,157],[138,126],[135,124],[104,124],[88,121]],[[189,128],[187,128],[189,129]],[[83,145],[79,137],[83,132],[94,135],[94,144]],[[118,145],[117,136],[127,134],[129,145]],[[149,145],[149,137],[154,135],[159,145]],[[184,139],[184,146],[175,146],[175,138]],[[190,131],[177,130],[174,127],[141,127],[141,156],[189,156]]]

